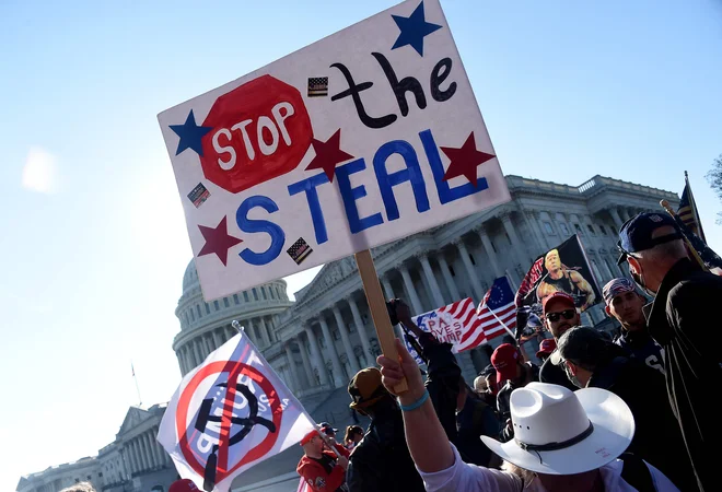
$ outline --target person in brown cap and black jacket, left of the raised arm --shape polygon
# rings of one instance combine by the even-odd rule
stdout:
[[[404,434],[404,418],[394,397],[381,384],[381,372],[369,367],[349,383],[351,408],[371,419],[363,440],[353,448],[346,471],[350,492],[422,492]]]

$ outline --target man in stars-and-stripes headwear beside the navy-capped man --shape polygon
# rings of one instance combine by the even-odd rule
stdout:
[[[614,279],[602,289],[607,315],[621,324],[621,335],[614,342],[634,358],[664,374],[664,351],[647,331],[642,307],[647,298],[629,279]]]

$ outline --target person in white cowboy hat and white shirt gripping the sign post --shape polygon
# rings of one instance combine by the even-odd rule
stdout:
[[[408,389],[395,395],[409,452],[428,492],[678,492],[641,459],[629,458],[636,465],[629,467],[627,460],[617,459],[631,442],[634,419],[619,397],[599,388],[572,393],[558,385],[529,383],[514,390],[510,400],[514,440],[502,444],[481,437],[505,461],[505,471],[465,464],[446,438],[416,361],[399,340],[396,349],[400,363],[379,358],[382,380],[392,394],[401,379],[407,380]],[[634,472],[626,472],[630,469]],[[622,478],[622,470],[637,487]]]

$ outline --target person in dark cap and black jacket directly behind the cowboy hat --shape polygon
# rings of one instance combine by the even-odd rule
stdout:
[[[606,340],[594,328],[577,327],[559,339],[569,378],[580,388],[607,389],[625,400],[634,415],[628,452],[645,459],[682,491],[697,490],[685,442],[672,413],[664,376]]]

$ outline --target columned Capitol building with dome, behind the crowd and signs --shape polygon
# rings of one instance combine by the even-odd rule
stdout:
[[[624,221],[641,211],[661,211],[662,199],[675,209],[679,202],[676,194],[602,176],[579,187],[519,176],[506,176],[506,183],[509,203],[374,248],[386,297],[406,300],[415,314],[464,297],[478,303],[496,278],[505,274],[519,285],[538,255],[572,234],[581,238],[602,286],[614,277],[628,276],[616,263],[617,231]],[[233,337],[231,323],[238,320],[314,417],[333,395],[337,407],[348,410],[349,379],[375,365],[381,353],[352,257],[325,265],[295,293],[295,301],[289,300],[286,282],[277,280],[208,303],[190,261],[175,314],[180,330],[172,347],[182,375]],[[612,325],[599,305],[585,318],[597,327]],[[500,338],[457,354],[467,382],[489,363],[499,343]],[[533,342],[525,349],[533,359]],[[84,480],[102,492],[167,492],[177,472],[155,441],[164,411],[165,405],[131,407],[116,440],[97,456],[23,476],[18,492],[59,492]],[[279,473],[287,473],[289,484],[298,484],[298,457],[291,454],[300,449],[287,452],[287,458],[279,455],[238,477],[234,492],[286,490],[259,485],[278,482]]]

